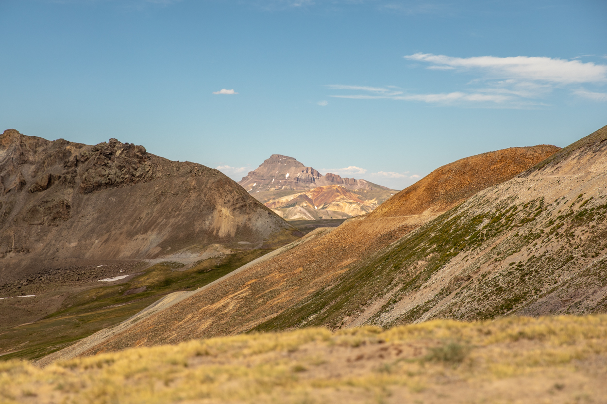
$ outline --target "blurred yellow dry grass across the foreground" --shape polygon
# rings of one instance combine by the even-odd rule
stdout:
[[[607,315],[435,320],[0,363],[2,403],[600,403]]]

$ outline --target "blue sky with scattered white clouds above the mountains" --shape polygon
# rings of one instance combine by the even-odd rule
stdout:
[[[607,124],[607,2],[0,0],[0,129],[402,188]]]

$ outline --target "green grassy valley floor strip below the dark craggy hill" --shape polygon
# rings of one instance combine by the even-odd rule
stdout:
[[[46,318],[4,330],[0,344],[14,349],[0,356],[0,360],[38,359],[63,349],[100,329],[123,322],[169,293],[200,288],[270,251],[256,249],[209,258],[185,271],[183,264],[167,261],[151,266],[127,283],[76,294]]]

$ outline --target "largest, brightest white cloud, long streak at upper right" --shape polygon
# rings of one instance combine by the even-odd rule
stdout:
[[[559,58],[538,56],[473,56],[454,58],[432,53],[415,53],[405,59],[429,62],[429,69],[478,69],[490,78],[513,78],[532,81],[547,81],[558,84],[607,81],[607,66]]]

